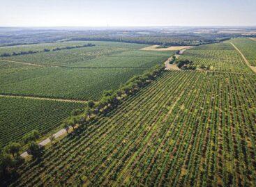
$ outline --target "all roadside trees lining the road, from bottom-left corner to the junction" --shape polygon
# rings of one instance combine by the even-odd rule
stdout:
[[[63,120],[61,127],[66,129],[68,136],[75,135],[86,129],[89,124],[93,124],[101,115],[107,115],[110,111],[121,104],[122,100],[130,95],[135,95],[141,88],[149,85],[159,74],[165,71],[165,65],[157,65],[144,72],[144,74],[133,76],[117,90],[106,90],[99,101],[88,101],[86,108],[73,111],[70,117]],[[69,133],[73,128],[73,133]],[[36,140],[40,138],[40,133],[33,130],[23,136],[20,143],[9,143],[0,149],[0,179],[6,180],[17,174],[17,168],[24,163],[24,158],[20,156],[22,147],[25,147],[28,154],[40,161],[44,152],[44,147],[38,145]],[[50,137],[51,142],[54,136]],[[1,147],[1,146],[0,146]]]

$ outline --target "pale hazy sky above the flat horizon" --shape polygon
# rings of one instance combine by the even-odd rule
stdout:
[[[0,26],[256,26],[256,0],[0,0]]]

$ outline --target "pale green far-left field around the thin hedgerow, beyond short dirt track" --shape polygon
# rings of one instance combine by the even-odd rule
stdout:
[[[7,52],[10,51],[27,51],[31,49],[31,47],[35,47],[32,49],[33,51],[43,50],[43,49],[52,49],[55,47],[66,47],[66,46],[75,46],[82,44],[95,44],[93,47],[82,47],[77,49],[66,49],[61,51],[49,51],[49,52],[41,52],[37,54],[27,54],[20,56],[9,56],[2,57],[3,60],[13,60],[17,62],[23,63],[33,63],[38,65],[47,65],[47,66],[57,66],[57,65],[72,65],[77,62],[84,62],[86,60],[91,60],[93,58],[109,56],[113,54],[119,54],[123,51],[136,51],[148,45],[145,44],[126,44],[121,42],[55,42],[50,44],[29,44],[26,47],[14,46],[14,47],[0,47],[0,51],[5,51],[7,48]],[[1,53],[1,52],[0,52]]]

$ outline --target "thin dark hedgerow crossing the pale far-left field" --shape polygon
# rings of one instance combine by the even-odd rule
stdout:
[[[75,49],[75,48],[82,48],[82,47],[93,47],[95,44],[83,44],[83,45],[76,45],[76,46],[67,46],[67,47],[56,47],[54,49],[43,49],[43,51],[20,51],[20,52],[13,52],[12,54],[4,53],[1,54],[0,57],[8,57],[8,56],[18,56],[18,55],[25,55],[25,54],[37,54],[41,52],[49,52],[49,51],[60,51],[63,49]]]

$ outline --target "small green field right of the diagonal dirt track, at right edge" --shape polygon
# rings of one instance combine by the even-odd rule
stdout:
[[[250,38],[235,38],[228,42],[234,43],[243,55],[246,56],[250,65],[256,67],[256,40]]]

